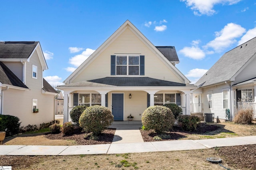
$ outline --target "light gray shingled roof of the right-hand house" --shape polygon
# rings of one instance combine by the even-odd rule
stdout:
[[[225,53],[194,85],[201,87],[231,80],[256,57],[256,37]]]

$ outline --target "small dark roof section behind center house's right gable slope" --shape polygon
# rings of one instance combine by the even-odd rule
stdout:
[[[156,46],[156,48],[168,59],[171,63],[180,62],[176,49],[173,46]]]

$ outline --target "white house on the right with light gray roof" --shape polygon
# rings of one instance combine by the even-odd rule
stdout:
[[[214,113],[222,122],[226,109],[232,120],[239,109],[252,108],[256,117],[256,37],[225,53],[194,85],[192,112]]]

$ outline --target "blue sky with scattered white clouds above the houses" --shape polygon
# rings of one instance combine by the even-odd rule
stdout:
[[[54,86],[126,20],[155,46],[175,46],[192,83],[256,37],[256,0],[1,0],[0,11],[0,41],[40,41]]]

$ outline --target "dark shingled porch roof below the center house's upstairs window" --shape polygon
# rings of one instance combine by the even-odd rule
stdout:
[[[62,86],[186,86],[186,84],[149,77],[105,77]]]

